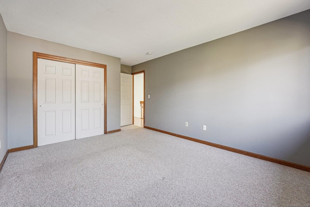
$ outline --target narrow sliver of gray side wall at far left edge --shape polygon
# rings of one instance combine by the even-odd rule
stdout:
[[[0,15],[0,162],[8,150],[7,130],[7,31]]]

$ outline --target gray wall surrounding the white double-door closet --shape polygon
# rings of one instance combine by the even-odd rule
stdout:
[[[120,59],[8,32],[9,148],[33,144],[32,52],[41,52],[107,65],[107,130],[120,128]]]

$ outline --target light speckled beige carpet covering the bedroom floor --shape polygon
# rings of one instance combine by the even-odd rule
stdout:
[[[0,206],[310,206],[310,173],[136,126],[10,153]]]

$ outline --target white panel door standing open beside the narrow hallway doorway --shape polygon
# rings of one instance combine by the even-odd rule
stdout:
[[[132,75],[121,73],[121,127],[132,123]]]

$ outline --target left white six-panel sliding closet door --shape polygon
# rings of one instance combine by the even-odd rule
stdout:
[[[75,139],[75,64],[38,59],[38,146]]]

